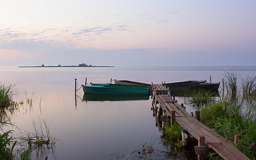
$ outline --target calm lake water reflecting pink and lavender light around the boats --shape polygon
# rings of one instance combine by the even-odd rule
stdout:
[[[145,143],[168,151],[161,141],[156,126],[151,98],[136,101],[83,101],[83,91],[77,93],[75,105],[75,79],[79,87],[87,82],[109,83],[110,79],[127,79],[143,83],[166,83],[188,80],[222,82],[226,72],[235,72],[243,79],[254,75],[256,67],[70,67],[70,68],[18,68],[1,66],[0,82],[16,84],[15,101],[32,97],[33,105],[20,105],[14,113],[2,115],[16,127],[14,137],[35,133],[32,121],[45,119],[56,141],[54,151],[33,159],[117,159],[131,148]],[[183,103],[179,99],[179,103]],[[187,111],[193,108],[187,106]],[[181,155],[183,156],[183,155]],[[123,157],[120,157],[122,159]],[[169,159],[171,159],[169,157]],[[175,159],[175,158],[174,158]],[[185,157],[183,157],[185,159]],[[187,157],[189,159],[189,157]]]

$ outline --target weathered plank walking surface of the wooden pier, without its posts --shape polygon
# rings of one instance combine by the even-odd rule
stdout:
[[[231,141],[225,139],[187,113],[187,111],[185,111],[185,109],[183,109],[183,107],[181,107],[177,101],[174,101],[171,97],[169,97],[166,92],[167,89],[165,89],[163,85],[153,86],[155,87],[155,91],[158,91],[158,94],[155,95],[157,103],[161,103],[161,107],[163,107],[163,110],[167,111],[167,115],[171,115],[171,110],[175,110],[176,121],[193,137],[198,140],[198,137],[204,136],[207,147],[213,149],[213,151],[218,153],[221,157],[223,157],[223,159],[249,159],[246,155],[239,151],[239,149],[237,149]]]

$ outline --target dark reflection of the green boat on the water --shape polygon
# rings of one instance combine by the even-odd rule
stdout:
[[[149,95],[97,95],[83,94],[83,101],[137,101],[149,100]]]

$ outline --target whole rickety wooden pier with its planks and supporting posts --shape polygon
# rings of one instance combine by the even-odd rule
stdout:
[[[241,160],[249,159],[239,149],[233,145],[233,142],[225,139],[200,121],[199,111],[195,112],[195,117],[187,113],[181,105],[171,97],[168,89],[163,85],[153,85],[153,107],[158,118],[169,117],[171,124],[175,119],[187,132],[199,141],[199,146],[195,146],[195,153],[198,159],[204,159],[209,149],[213,149],[223,159]]]

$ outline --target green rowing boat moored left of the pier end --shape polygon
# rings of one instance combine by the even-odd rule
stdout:
[[[97,95],[149,95],[149,86],[91,83],[82,87],[84,93]]]

